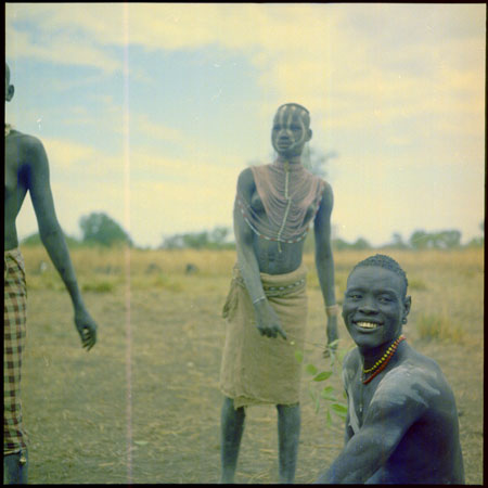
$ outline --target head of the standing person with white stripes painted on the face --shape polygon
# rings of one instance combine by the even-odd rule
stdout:
[[[310,116],[304,107],[287,104],[278,108],[271,130],[271,143],[279,155],[299,156],[311,134]]]

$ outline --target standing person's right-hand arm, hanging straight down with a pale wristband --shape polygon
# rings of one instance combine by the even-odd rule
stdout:
[[[334,257],[332,254],[331,244],[331,214],[333,206],[334,196],[332,188],[330,184],[325,183],[323,196],[313,222],[316,237],[316,267],[325,307],[331,307],[336,304]],[[326,336],[328,346],[338,338],[337,313],[328,313]]]

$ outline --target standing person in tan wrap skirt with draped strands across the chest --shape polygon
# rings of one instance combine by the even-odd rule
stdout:
[[[228,319],[220,372],[221,477],[233,483],[245,407],[278,409],[280,483],[295,478],[300,431],[300,364],[307,320],[304,242],[313,221],[316,266],[328,316],[326,335],[337,338],[337,305],[331,248],[332,188],[304,168],[310,115],[296,103],[273,119],[274,163],[244,169],[234,204],[237,264],[223,307]]]

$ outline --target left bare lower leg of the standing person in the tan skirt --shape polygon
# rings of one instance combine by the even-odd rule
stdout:
[[[234,401],[223,399],[220,418],[220,461],[222,473],[220,483],[234,483],[235,467],[237,465],[239,448],[244,432],[244,408],[234,409]]]

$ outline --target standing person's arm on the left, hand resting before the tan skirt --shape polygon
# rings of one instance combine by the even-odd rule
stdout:
[[[253,175],[249,168],[241,172],[237,179],[237,194],[251,201],[251,192],[254,185]],[[234,204],[233,224],[235,245],[237,251],[237,265],[246,284],[251,300],[253,301],[256,326],[261,335],[277,337],[286,334],[281,328],[280,319],[266,298],[259,273],[259,265],[253,248],[253,231],[245,222],[237,202]]]

